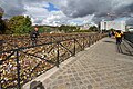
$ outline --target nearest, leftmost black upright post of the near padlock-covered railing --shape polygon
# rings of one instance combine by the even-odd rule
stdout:
[[[21,85],[20,85],[20,63],[19,63],[19,50],[17,50],[17,81],[18,81],[18,89],[21,89]]]

